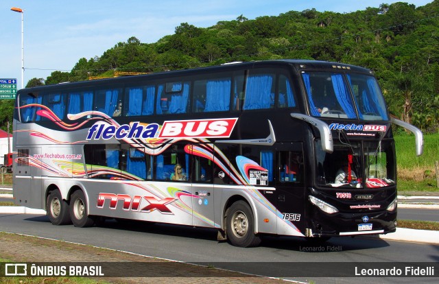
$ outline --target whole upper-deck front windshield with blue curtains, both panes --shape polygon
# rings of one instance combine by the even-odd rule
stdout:
[[[314,117],[388,120],[383,95],[371,75],[302,72],[302,79]]]

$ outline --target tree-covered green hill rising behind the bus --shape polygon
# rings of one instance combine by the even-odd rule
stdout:
[[[231,61],[300,58],[356,64],[375,71],[391,113],[425,132],[439,129],[439,0],[422,7],[399,2],[351,13],[315,9],[219,21],[207,28],[181,23],[156,43],[135,36],[69,73],[55,71],[28,86],[156,72]],[[1,120],[1,117],[0,117]]]

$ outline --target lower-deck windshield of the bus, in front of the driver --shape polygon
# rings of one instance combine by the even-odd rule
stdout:
[[[315,145],[318,186],[376,188],[395,185],[392,143],[335,143],[331,154],[322,150],[320,141]]]

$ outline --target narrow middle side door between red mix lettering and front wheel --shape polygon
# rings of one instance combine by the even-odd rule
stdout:
[[[215,227],[214,191],[212,181],[213,161],[206,153],[211,144],[191,145],[192,222],[193,226]]]

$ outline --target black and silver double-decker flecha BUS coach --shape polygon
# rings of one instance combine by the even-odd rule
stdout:
[[[215,228],[234,246],[396,230],[390,118],[368,69],[272,60],[20,90],[14,198],[52,224]]]

